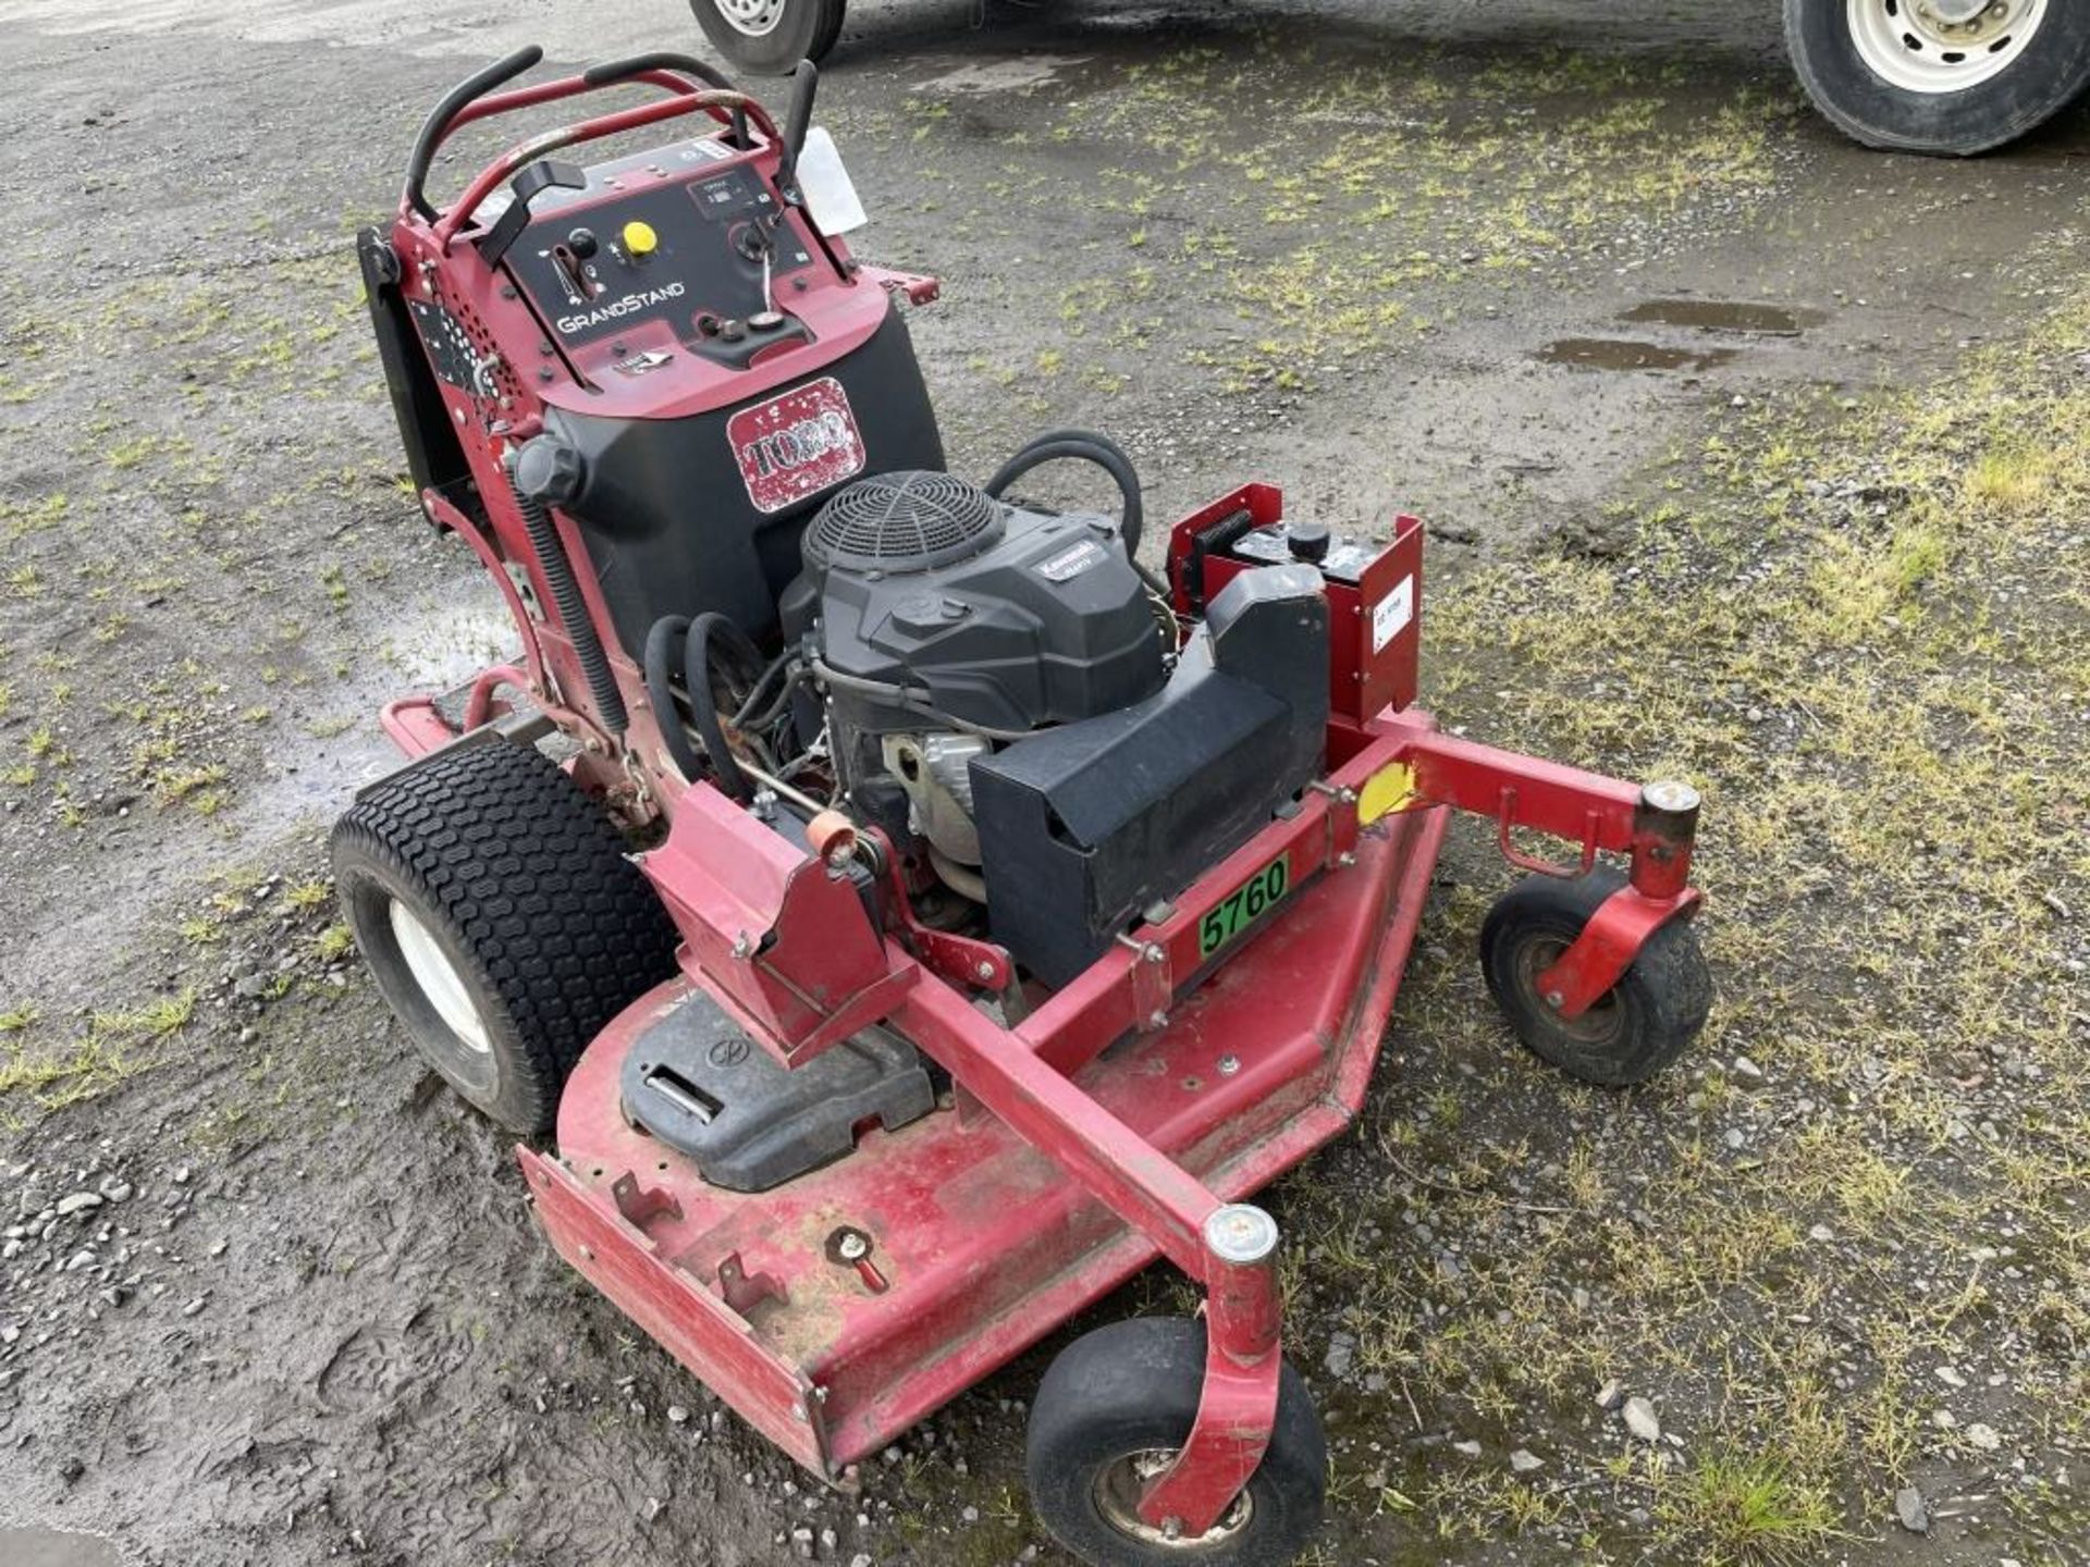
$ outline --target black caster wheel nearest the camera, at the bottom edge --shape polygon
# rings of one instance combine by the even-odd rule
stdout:
[[[1147,1479],[1189,1440],[1204,1391],[1204,1323],[1141,1316],[1097,1329],[1051,1362],[1030,1406],[1024,1469],[1039,1521],[1089,1567],[1285,1567],[1327,1498],[1327,1440],[1285,1364],[1277,1425],[1248,1488],[1195,1540],[1139,1517]]]

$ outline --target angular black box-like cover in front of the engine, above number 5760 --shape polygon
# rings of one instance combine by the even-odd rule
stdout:
[[[995,940],[1066,984],[1260,832],[1321,773],[1325,746],[1319,577],[1241,572],[1158,696],[972,763]]]

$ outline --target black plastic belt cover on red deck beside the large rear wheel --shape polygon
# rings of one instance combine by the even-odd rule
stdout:
[[[936,1107],[922,1057],[884,1028],[792,1070],[750,1040],[702,990],[648,1028],[625,1057],[625,1120],[696,1160],[727,1191],[769,1191]]]

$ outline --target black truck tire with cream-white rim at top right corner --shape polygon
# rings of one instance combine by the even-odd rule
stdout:
[[[1896,153],[2013,142],[2090,81],[2077,0],[1785,0],[1785,46],[1814,107]]]

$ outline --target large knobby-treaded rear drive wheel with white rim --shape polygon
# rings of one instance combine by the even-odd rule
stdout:
[[[675,926],[608,815],[502,740],[393,775],[334,825],[341,907],[437,1072],[502,1126],[548,1130],[604,1024],[675,974]]]

